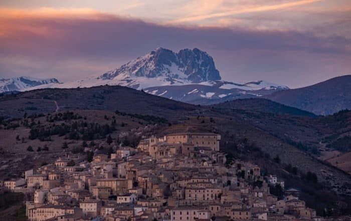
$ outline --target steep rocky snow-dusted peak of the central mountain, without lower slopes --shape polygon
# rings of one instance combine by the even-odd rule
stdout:
[[[119,76],[119,77],[118,77]],[[189,83],[200,83],[208,80],[220,80],[211,56],[197,48],[183,49],[174,53],[168,49],[157,48],[138,57],[118,69],[104,73],[103,80],[120,79],[120,77],[146,77]],[[118,78],[116,78],[118,77]]]

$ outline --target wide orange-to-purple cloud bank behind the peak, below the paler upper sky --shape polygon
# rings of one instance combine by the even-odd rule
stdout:
[[[351,67],[344,62],[351,57],[350,48],[345,47],[351,41],[340,36],[164,26],[89,10],[20,12],[0,16],[0,76],[77,80],[116,68],[157,47],[207,51],[224,79],[233,81],[259,78],[283,83],[289,76],[306,74],[326,78]],[[296,80],[288,86],[301,84]]]

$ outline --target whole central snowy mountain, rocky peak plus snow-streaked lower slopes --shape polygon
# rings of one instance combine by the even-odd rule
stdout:
[[[119,85],[193,104],[214,104],[253,98],[288,87],[266,81],[233,83],[221,80],[213,58],[197,48],[178,53],[158,48],[98,77],[35,88],[77,88]]]

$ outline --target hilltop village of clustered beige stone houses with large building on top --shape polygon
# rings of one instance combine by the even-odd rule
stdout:
[[[215,133],[178,133],[115,146],[91,162],[69,153],[4,188],[34,192],[26,201],[31,221],[326,220],[274,174],[227,157],[220,141]],[[284,190],[281,199],[270,187]]]

